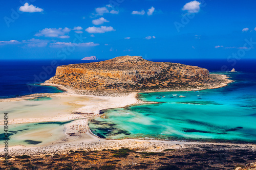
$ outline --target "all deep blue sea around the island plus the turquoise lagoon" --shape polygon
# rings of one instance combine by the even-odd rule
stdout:
[[[155,60],[156,61],[156,60]],[[256,143],[256,60],[158,60],[207,68],[235,82],[219,89],[141,93],[144,101],[163,102],[109,109],[89,126],[102,138],[126,137],[215,140]],[[0,98],[32,93],[61,92],[39,86],[55,74],[52,61],[0,61]],[[58,65],[84,63],[57,61]],[[237,72],[228,72],[235,68]],[[186,95],[176,98],[173,94]],[[165,96],[165,98],[162,98]],[[161,99],[156,99],[159,97]]]

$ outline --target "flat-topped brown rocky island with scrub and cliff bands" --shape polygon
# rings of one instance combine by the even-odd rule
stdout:
[[[209,71],[179,63],[152,62],[138,56],[58,66],[46,83],[88,91],[139,91],[202,87],[215,80]]]

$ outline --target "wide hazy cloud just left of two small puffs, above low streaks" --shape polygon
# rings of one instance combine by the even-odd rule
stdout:
[[[71,31],[71,29],[69,28],[46,28],[44,30],[39,31],[38,33],[35,34],[35,36],[40,37],[40,36],[44,36],[44,37],[58,37],[58,36],[62,36],[65,35],[67,33],[69,33]]]

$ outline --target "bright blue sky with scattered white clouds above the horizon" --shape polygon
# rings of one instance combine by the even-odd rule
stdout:
[[[2,1],[0,59],[256,56],[256,2]]]

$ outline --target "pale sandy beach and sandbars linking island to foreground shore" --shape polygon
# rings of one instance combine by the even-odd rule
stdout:
[[[214,88],[221,88],[221,87],[225,87],[227,86],[229,83],[233,82],[232,80],[228,79],[229,77],[227,77],[226,75],[222,75],[222,79],[225,80],[225,83],[221,83],[216,85],[215,87],[211,87],[211,88],[198,88],[198,89],[187,89],[187,90],[181,90],[181,91],[194,91],[194,90],[204,90],[204,89],[214,89]],[[122,107],[129,107],[131,105],[138,105],[138,104],[154,104],[156,102],[143,102],[139,99],[138,94],[140,92],[158,92],[158,91],[140,91],[140,92],[133,92],[130,93],[129,95],[124,95],[121,97],[113,97],[113,96],[96,96],[96,95],[81,95],[81,94],[75,94],[75,92],[71,89],[68,89],[67,87],[61,86],[61,85],[57,85],[57,84],[49,84],[49,83],[43,83],[40,85],[47,85],[47,86],[55,86],[61,90],[65,90],[65,92],[61,92],[61,93],[43,93],[43,94],[30,94],[30,95],[26,95],[26,96],[19,96],[18,98],[10,98],[10,99],[1,99],[0,102],[15,102],[15,101],[24,101],[27,99],[33,99],[33,98],[37,98],[38,96],[49,96],[51,98],[55,98],[55,97],[63,97],[63,96],[68,96],[69,98],[72,98],[74,96],[79,96],[79,97],[83,97],[83,98],[89,98],[90,100],[92,100],[94,103],[93,106],[88,106],[88,101],[76,101],[73,102],[76,105],[82,106],[79,109],[76,110],[72,110],[72,113],[68,114],[68,115],[61,115],[61,116],[57,116],[57,117],[44,117],[44,118],[34,118],[34,119],[27,119],[26,121],[21,121],[21,120],[13,120],[10,121],[10,124],[24,124],[24,123],[37,123],[37,122],[64,122],[67,120],[73,120],[72,123],[67,124],[67,130],[66,130],[66,138],[62,139],[61,141],[55,141],[53,142],[54,144],[48,143],[46,145],[38,145],[38,147],[33,147],[33,145],[29,145],[28,147],[25,147],[23,145],[16,145],[13,147],[10,147],[11,149],[11,154],[20,154],[21,152],[26,153],[26,152],[31,152],[36,154],[36,152],[39,151],[39,148],[45,149],[45,148],[53,148],[53,149],[48,149],[49,152],[53,153],[56,152],[54,150],[56,150],[58,148],[61,148],[61,152],[67,152],[67,150],[73,149],[73,148],[79,148],[79,147],[84,147],[84,149],[88,149],[88,146],[90,146],[90,143],[94,143],[94,148],[93,150],[102,150],[105,148],[109,148],[110,146],[107,144],[109,142],[115,143],[112,146],[112,149],[116,149],[118,148],[117,146],[122,146],[125,148],[132,148],[134,144],[131,144],[133,142],[142,142],[144,143],[144,147],[146,146],[148,151],[152,151],[152,152],[157,152],[160,151],[158,150],[154,150],[152,149],[152,143],[160,143],[161,147],[163,150],[164,149],[171,149],[174,148],[177,144],[178,145],[190,145],[191,143],[194,144],[220,144],[218,142],[200,142],[200,141],[175,141],[175,140],[159,140],[159,139],[121,139],[121,140],[115,140],[115,139],[102,139],[99,138],[98,136],[96,136],[95,134],[93,134],[88,126],[88,120],[89,118],[93,118],[96,116],[99,116],[100,113],[106,109],[111,109],[111,108],[122,108]],[[161,90],[159,90],[160,92]],[[168,90],[168,91],[177,91],[177,90]],[[89,101],[90,101],[89,100]],[[99,102],[101,101],[101,102]],[[98,103],[104,103],[102,105],[99,105]],[[91,110],[91,111],[90,111]],[[78,114],[77,114],[78,113]],[[77,124],[77,122],[85,120],[85,124],[84,127],[86,127],[85,132],[86,133],[79,133],[76,130],[72,130],[72,128],[70,128],[70,125],[75,125]],[[0,123],[1,124],[1,123]],[[70,135],[73,134],[73,135]],[[75,134],[75,135],[74,135]],[[86,139],[86,140],[84,140]],[[150,142],[149,142],[150,141]],[[130,144],[129,144],[130,142]],[[87,143],[87,144],[84,144]],[[145,144],[146,143],[146,144]],[[164,143],[164,144],[163,144]],[[66,147],[65,146],[67,144],[71,144],[71,148],[70,147]],[[84,145],[83,145],[84,144]],[[168,144],[168,147],[165,147],[165,144]],[[228,143],[228,142],[224,142],[222,143],[224,145],[237,145],[234,143]],[[240,144],[241,146],[243,145],[244,147],[250,145],[252,147],[255,147],[254,144]],[[138,146],[136,146],[138,148]],[[89,147],[90,148],[90,147]],[[140,148],[143,148],[142,146],[140,146]],[[151,148],[151,149],[148,149]],[[0,153],[3,153],[3,149],[4,148],[0,148]],[[144,148],[145,149],[145,148]],[[33,150],[30,151],[30,150]],[[26,152],[24,152],[26,151]],[[143,151],[143,150],[142,150]],[[49,153],[48,153],[49,154]]]

